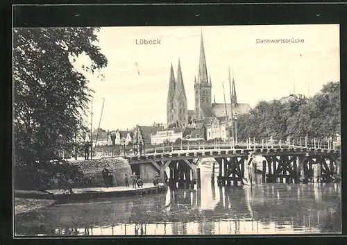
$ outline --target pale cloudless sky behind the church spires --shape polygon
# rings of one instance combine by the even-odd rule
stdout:
[[[280,99],[295,92],[312,96],[329,81],[340,80],[339,25],[278,26],[141,26],[103,27],[99,43],[108,66],[96,74],[74,66],[95,91],[93,127],[126,130],[136,124],[166,123],[171,63],[183,73],[188,109],[194,110],[194,76],[198,74],[201,33],[212,94],[230,103],[228,69],[234,74],[238,103],[254,107],[259,101]],[[300,39],[301,43],[257,43],[257,39]],[[139,40],[160,40],[138,45]],[[137,41],[136,41],[137,40]],[[98,75],[103,74],[102,80]],[[87,119],[90,121],[90,118]]]

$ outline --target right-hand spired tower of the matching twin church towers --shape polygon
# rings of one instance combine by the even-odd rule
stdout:
[[[179,126],[185,126],[188,123],[188,107],[187,96],[185,94],[185,84],[183,83],[182,70],[180,68],[180,60],[178,59],[178,70],[176,76],[176,88],[174,96],[174,121]]]

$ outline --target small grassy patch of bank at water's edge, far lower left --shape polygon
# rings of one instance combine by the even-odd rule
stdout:
[[[33,198],[15,198],[15,215],[23,212],[38,210],[52,205],[54,200],[33,199]]]

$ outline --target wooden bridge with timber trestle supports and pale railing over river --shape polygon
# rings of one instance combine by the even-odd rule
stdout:
[[[173,187],[200,187],[200,164],[204,158],[214,158],[219,164],[219,185],[251,185],[255,172],[262,172],[263,183],[301,183],[307,181],[331,182],[339,175],[340,151],[332,144],[261,144],[244,145],[198,144],[171,147],[171,151],[154,149],[144,155],[123,155],[133,169],[145,180],[160,173],[162,182]],[[272,141],[274,142],[274,141]],[[257,155],[264,157],[262,169],[254,162]],[[214,176],[212,164],[212,176]],[[169,167],[169,176],[166,169]],[[316,169],[316,171],[314,171]],[[212,177],[213,178],[213,177]]]

